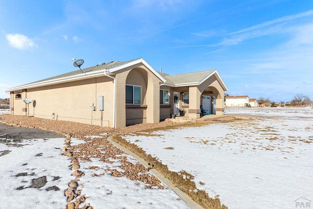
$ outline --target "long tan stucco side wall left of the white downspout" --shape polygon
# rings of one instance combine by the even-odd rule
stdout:
[[[27,90],[25,95],[34,101],[29,105],[29,116],[69,120],[100,125],[101,111],[98,96],[104,96],[103,125],[112,126],[112,79],[90,78]],[[22,98],[24,99],[24,97]],[[21,109],[22,100],[14,102],[14,109]],[[91,104],[95,106],[93,111]],[[51,115],[53,114],[54,115]],[[22,115],[14,111],[14,115]],[[111,122],[112,123],[112,122]]]

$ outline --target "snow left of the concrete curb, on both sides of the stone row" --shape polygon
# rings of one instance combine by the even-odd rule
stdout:
[[[64,192],[74,177],[69,169],[70,161],[61,152],[64,140],[16,141],[1,138],[0,135],[0,196],[4,200],[0,203],[0,208],[66,208],[67,198]],[[71,145],[83,142],[85,141],[71,139]],[[133,157],[125,156],[130,163],[138,163]],[[79,179],[78,189],[82,189],[82,194],[87,197],[81,207],[89,203],[94,209],[190,209],[166,186],[165,189],[149,189],[140,181],[112,177],[111,171],[105,170],[121,170],[121,163],[115,159],[111,161],[112,164],[91,158],[90,162],[80,162],[80,170],[85,176]],[[59,190],[55,190],[56,188]]]

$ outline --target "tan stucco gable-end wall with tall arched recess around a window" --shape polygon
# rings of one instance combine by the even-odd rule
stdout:
[[[116,74],[116,81],[117,127],[159,122],[159,79],[150,70],[125,70]]]

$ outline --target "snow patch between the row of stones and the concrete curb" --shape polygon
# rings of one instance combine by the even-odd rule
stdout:
[[[129,155],[130,163],[138,163]],[[132,181],[126,177],[112,177],[108,168],[121,170],[118,160],[114,163],[104,163],[92,158],[91,162],[80,163],[85,176],[80,179],[82,194],[85,194],[85,204],[94,209],[190,209],[183,200],[171,189],[146,189],[140,181]],[[96,167],[90,169],[90,167]]]

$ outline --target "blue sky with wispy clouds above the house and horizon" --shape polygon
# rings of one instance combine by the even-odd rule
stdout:
[[[312,0],[1,0],[5,89],[102,62],[218,70],[229,95],[313,100]]]

